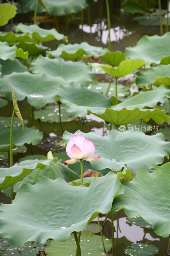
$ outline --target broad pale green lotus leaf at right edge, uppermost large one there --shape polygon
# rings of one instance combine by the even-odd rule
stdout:
[[[170,49],[167,48],[169,40],[170,32],[167,32],[163,36],[143,36],[135,47],[126,48],[126,58],[142,58],[148,64],[159,64],[163,57],[170,56]]]

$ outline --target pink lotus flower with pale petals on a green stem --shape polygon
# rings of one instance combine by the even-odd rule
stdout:
[[[71,158],[64,161],[66,164],[74,164],[77,161],[80,162],[80,159],[86,161],[94,161],[100,156],[90,157],[95,152],[94,144],[90,139],[85,139],[81,134],[74,135],[66,147],[67,155]]]

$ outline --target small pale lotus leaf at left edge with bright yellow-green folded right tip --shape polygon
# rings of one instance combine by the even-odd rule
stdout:
[[[24,52],[21,48],[17,49],[16,45],[10,47],[7,42],[0,42],[0,59],[14,60],[16,57],[27,59],[28,52]]]

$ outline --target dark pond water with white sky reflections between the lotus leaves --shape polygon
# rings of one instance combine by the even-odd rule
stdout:
[[[101,1],[102,2],[102,1]],[[143,35],[159,35],[159,26],[140,26],[136,22],[132,21],[134,15],[127,14],[121,10],[118,4],[110,4],[111,12],[111,48],[112,51],[122,51],[124,52],[126,46],[132,46],[137,43],[137,41]],[[80,18],[81,14],[76,14],[75,18]],[[90,5],[84,11],[83,26],[78,24],[79,20],[73,19],[68,25],[67,18],[62,18],[58,20],[58,27],[60,33],[68,36],[68,41],[70,44],[88,42],[91,45],[108,47],[108,30],[107,30],[107,14],[106,6],[104,2],[102,3],[102,19],[99,18],[98,3]],[[101,22],[100,22],[101,21]],[[47,28],[51,28],[52,25],[49,23]],[[50,47],[55,50],[57,41],[50,41],[48,43],[43,43],[43,45]],[[88,62],[86,60],[86,62]],[[108,81],[107,76],[102,76],[103,81]],[[124,84],[127,84],[124,82]],[[129,84],[128,84],[129,86]],[[32,97],[41,97],[41,95],[32,95]],[[30,118],[31,106],[27,104],[26,100],[19,101],[18,106],[21,110],[21,114],[24,119]],[[1,108],[1,116],[11,116],[12,114],[12,103],[10,102],[8,106]],[[37,129],[42,130],[44,133],[44,139],[54,137],[55,135],[62,135],[61,127],[59,123],[45,123],[41,120],[41,123],[37,120],[34,121],[34,125]],[[63,129],[69,132],[75,132],[78,128],[78,120],[72,120],[70,122],[63,123]],[[80,124],[80,130],[83,132],[95,131],[100,135],[105,135],[108,132],[108,128],[104,124],[104,121],[93,115],[88,115],[84,122]],[[47,150],[42,149],[37,146],[26,146],[27,152],[20,153],[16,156],[14,155],[14,161],[18,158],[33,154],[46,155]],[[51,145],[51,150],[53,150],[53,145]],[[0,161],[2,165],[7,166],[7,161]],[[104,216],[100,216],[100,221],[104,220]],[[96,219],[94,220],[94,222]],[[97,222],[96,222],[97,223]],[[166,249],[168,244],[168,238],[163,238],[157,236],[153,229],[141,228],[132,223],[129,223],[124,211],[121,210],[114,215],[114,226],[115,226],[115,255],[122,256],[124,254],[124,249],[131,245],[132,243],[149,243],[154,244],[159,247],[158,256],[166,255]],[[108,238],[111,238],[111,221],[108,218],[106,226],[103,229],[103,234]],[[111,252],[110,252],[111,253]],[[0,255],[6,255],[1,252]],[[11,253],[12,255],[12,253]],[[34,254],[33,254],[34,255]],[[170,255],[170,254],[169,254]]]

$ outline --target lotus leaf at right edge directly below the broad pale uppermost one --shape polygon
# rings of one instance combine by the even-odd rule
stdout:
[[[135,74],[135,76],[137,77],[136,84],[140,87],[143,87],[143,86],[149,86],[152,84],[158,85],[158,82],[161,81],[163,82],[162,84],[166,85],[166,83],[163,81],[163,77],[169,75],[169,70],[170,70],[170,65],[159,65],[158,67],[151,67],[143,73],[137,72]],[[159,79],[157,77],[159,77]]]

